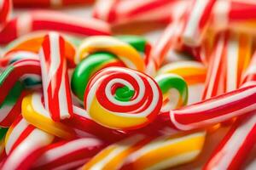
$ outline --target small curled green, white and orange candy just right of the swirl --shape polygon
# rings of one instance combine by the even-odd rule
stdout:
[[[187,104],[188,86],[183,77],[167,73],[154,78],[163,94],[163,105],[160,113],[177,109]]]

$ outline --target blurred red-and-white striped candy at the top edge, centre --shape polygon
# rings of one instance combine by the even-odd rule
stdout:
[[[186,1],[169,0],[101,0],[94,8],[94,17],[106,20],[111,25],[137,21],[157,21],[168,23],[186,7]]]

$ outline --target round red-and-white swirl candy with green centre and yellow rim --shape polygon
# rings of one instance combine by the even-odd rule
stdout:
[[[113,129],[143,127],[159,114],[161,105],[160,88],[151,77],[120,67],[99,71],[84,94],[91,118]]]

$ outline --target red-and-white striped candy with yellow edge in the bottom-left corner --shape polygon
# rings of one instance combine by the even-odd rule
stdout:
[[[28,124],[19,116],[6,135],[6,151],[9,153],[1,169],[27,169],[40,156],[40,150],[50,144],[54,136]],[[26,152],[24,152],[26,150]]]

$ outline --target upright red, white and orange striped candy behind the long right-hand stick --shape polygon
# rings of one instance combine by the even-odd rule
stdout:
[[[203,99],[239,88],[253,50],[252,38],[246,34],[224,32],[217,38],[209,62]]]

